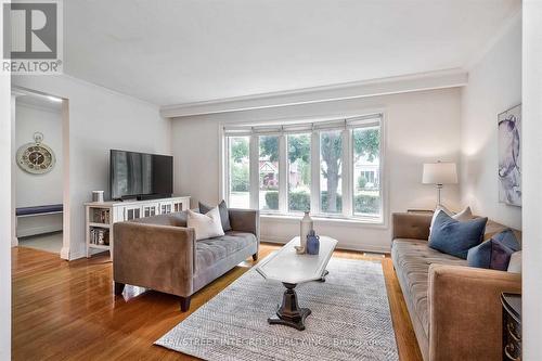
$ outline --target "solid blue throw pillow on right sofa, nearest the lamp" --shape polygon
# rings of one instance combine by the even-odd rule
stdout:
[[[429,247],[466,259],[468,249],[481,243],[487,222],[487,218],[459,221],[441,211],[433,224]]]

